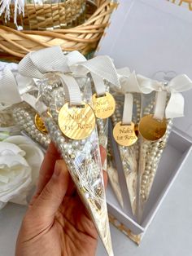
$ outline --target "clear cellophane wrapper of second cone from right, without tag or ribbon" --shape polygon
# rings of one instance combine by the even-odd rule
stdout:
[[[124,95],[118,92],[113,93],[116,99],[116,111],[111,117],[112,126],[122,121],[124,111]],[[141,115],[141,95],[133,93],[133,123],[137,125]],[[129,192],[129,199],[133,214],[136,214],[137,209],[137,170],[139,158],[139,143],[138,141],[133,145],[126,147],[118,144],[120,159],[124,170],[124,177],[126,179],[127,189]],[[118,171],[118,170],[117,170]],[[116,181],[118,183],[118,181]],[[115,185],[115,184],[114,184]]]

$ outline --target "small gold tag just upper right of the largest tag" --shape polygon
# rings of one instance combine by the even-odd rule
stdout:
[[[98,118],[108,118],[116,109],[116,101],[113,96],[106,92],[105,95],[98,97],[96,94],[92,96],[93,108],[95,116]]]

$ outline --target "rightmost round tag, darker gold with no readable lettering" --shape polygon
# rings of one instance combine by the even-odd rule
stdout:
[[[166,119],[160,121],[155,119],[153,115],[147,115],[142,117],[138,124],[138,130],[144,139],[155,141],[164,136],[167,130]]]

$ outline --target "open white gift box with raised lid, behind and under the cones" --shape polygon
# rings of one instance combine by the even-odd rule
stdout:
[[[119,2],[97,54],[110,55],[117,68],[129,67],[146,77],[171,78],[180,73],[191,77],[192,12],[167,0]],[[112,223],[138,244],[192,150],[192,91],[184,96],[185,117],[174,120],[141,224],[133,217],[131,207],[124,213],[111,187],[107,188]],[[120,170],[120,161],[117,165]]]

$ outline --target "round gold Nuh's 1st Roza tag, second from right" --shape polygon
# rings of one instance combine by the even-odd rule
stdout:
[[[135,125],[131,122],[130,125],[122,125],[119,121],[113,129],[113,137],[121,146],[131,146],[137,141],[135,134]]]

